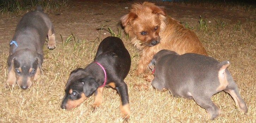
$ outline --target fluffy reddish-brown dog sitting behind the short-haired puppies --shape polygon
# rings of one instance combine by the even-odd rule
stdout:
[[[177,20],[167,17],[164,7],[150,2],[134,4],[130,12],[121,18],[121,22],[132,44],[141,50],[136,75],[144,73],[153,55],[162,49],[173,50],[179,55],[207,55],[195,33]],[[151,81],[153,76],[148,72],[144,73],[144,77]]]

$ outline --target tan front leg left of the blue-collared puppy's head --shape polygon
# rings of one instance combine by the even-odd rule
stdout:
[[[5,87],[13,88],[15,85],[16,85],[16,73],[14,72],[13,63],[12,63],[10,71],[8,72],[8,75],[7,75],[7,81],[6,81]]]

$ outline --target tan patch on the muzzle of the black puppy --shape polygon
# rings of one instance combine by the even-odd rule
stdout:
[[[78,107],[81,103],[83,103],[84,100],[86,100],[86,99],[87,99],[87,97],[85,97],[84,93],[81,94],[80,99],[77,99],[77,100],[68,99],[67,103],[66,103],[66,109],[67,110],[74,109],[75,107]]]

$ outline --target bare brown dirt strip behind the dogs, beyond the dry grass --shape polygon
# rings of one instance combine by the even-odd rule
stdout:
[[[60,35],[67,37],[73,33],[80,39],[94,41],[99,37],[99,30],[102,26],[117,29],[120,27],[120,18],[129,12],[134,2],[120,1],[99,1],[99,0],[73,0],[69,2],[63,11],[48,13],[56,32],[57,41],[61,41]],[[188,21],[190,24],[198,23],[199,16],[214,23],[214,19],[224,19],[228,22],[245,21],[255,19],[255,16],[238,10],[226,11],[209,9],[207,7],[190,7],[172,5],[168,2],[157,2],[159,6],[165,6],[167,14],[181,21]],[[128,7],[126,9],[125,7]],[[10,42],[18,21],[23,14],[0,16],[0,43]],[[102,31],[102,33],[107,33]],[[109,34],[109,33],[107,33]],[[103,37],[109,35],[103,34]]]

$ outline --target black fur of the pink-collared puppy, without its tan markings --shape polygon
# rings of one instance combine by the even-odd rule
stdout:
[[[106,70],[107,82],[114,82],[117,92],[120,94],[122,105],[128,104],[128,90],[124,82],[131,65],[130,54],[124,47],[120,38],[106,37],[100,44],[95,59],[86,68],[78,68],[71,72],[66,84],[65,96],[61,108],[65,109],[67,100],[77,100],[71,98],[70,90],[76,91],[77,94],[85,94],[90,97],[99,86],[103,85],[105,75],[103,69],[96,64],[100,63]],[[83,84],[83,86],[81,86]],[[80,86],[74,86],[80,85]],[[80,96],[81,97],[81,96]]]

